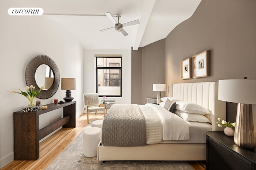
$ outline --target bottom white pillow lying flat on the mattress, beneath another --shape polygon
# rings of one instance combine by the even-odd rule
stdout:
[[[196,122],[203,122],[203,123],[211,123],[209,119],[207,119],[207,117],[205,117],[204,115],[200,115],[200,114],[195,114],[195,113],[186,113],[180,110],[175,111],[175,114],[180,116],[182,119],[186,120],[186,121],[196,121]]]

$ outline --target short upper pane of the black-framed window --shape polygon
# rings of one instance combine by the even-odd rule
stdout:
[[[100,67],[120,67],[121,58],[101,58],[97,57],[97,66]]]

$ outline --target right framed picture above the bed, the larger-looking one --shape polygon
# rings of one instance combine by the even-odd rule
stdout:
[[[210,76],[210,51],[193,56],[193,78]]]

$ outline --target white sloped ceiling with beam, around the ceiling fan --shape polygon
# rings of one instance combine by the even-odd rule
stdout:
[[[41,0],[30,1],[66,29],[84,49],[131,49],[144,47],[166,36],[195,12],[201,0]],[[23,4],[24,6],[24,4]],[[30,5],[31,6],[31,5]],[[30,7],[27,6],[27,7]],[[120,23],[140,20],[140,24],[124,27],[129,34],[114,27],[104,13],[121,16]],[[66,16],[48,14],[89,14],[103,16]]]

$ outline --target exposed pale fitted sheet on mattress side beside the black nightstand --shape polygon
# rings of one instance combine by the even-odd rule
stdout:
[[[206,143],[206,132],[212,131],[210,123],[186,121],[189,126],[190,139],[183,141],[162,141],[161,143]]]

